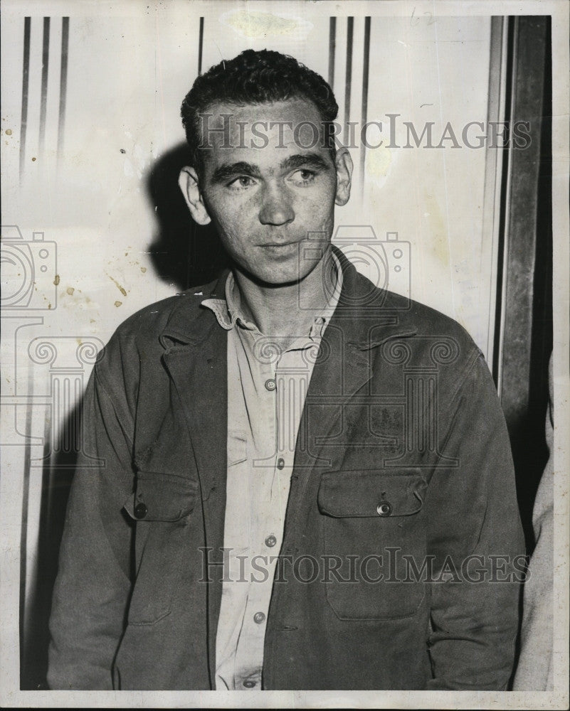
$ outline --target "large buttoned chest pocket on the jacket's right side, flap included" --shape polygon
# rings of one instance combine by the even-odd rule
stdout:
[[[327,602],[343,620],[408,617],[418,611],[426,560],[419,472],[331,471],[318,493]],[[333,570],[333,568],[335,570]]]

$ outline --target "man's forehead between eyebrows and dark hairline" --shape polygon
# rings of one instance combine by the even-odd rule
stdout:
[[[206,170],[237,161],[275,166],[292,153],[329,154],[320,112],[307,99],[241,106],[217,103],[200,119],[199,150]]]

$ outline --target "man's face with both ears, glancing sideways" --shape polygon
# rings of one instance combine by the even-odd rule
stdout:
[[[227,134],[210,130],[203,136],[212,147],[201,149],[199,184],[194,169],[181,173],[194,219],[214,223],[226,251],[249,277],[274,285],[304,279],[318,260],[315,250],[303,258],[303,242],[321,240],[324,251],[334,204],[349,198],[348,151],[340,149],[334,159],[324,147],[320,114],[307,100],[213,105],[208,113],[210,129],[222,127],[222,114],[231,114],[229,141]],[[319,131],[318,140],[309,124]]]

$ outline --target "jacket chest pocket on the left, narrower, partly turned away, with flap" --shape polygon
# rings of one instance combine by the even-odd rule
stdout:
[[[137,521],[130,624],[153,624],[171,611],[189,549],[189,519],[198,483],[184,476],[139,471],[137,488],[125,502]]]

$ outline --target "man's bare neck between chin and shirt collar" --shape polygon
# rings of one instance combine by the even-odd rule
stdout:
[[[277,287],[254,282],[234,269],[241,296],[241,309],[265,336],[299,336],[310,328],[315,315],[328,304],[330,293],[325,284],[334,284],[331,247],[310,274],[300,282]],[[331,270],[332,274],[326,274]],[[307,309],[310,304],[310,309]]]

